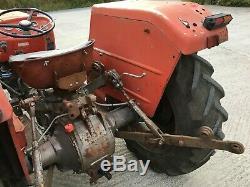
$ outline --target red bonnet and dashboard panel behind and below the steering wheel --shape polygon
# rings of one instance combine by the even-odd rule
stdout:
[[[15,16],[10,16],[9,18],[0,19],[1,24],[18,24],[20,20],[26,19],[27,15],[24,13],[17,14]],[[48,20],[44,17],[33,17],[38,26],[44,25]],[[12,32],[19,34],[20,30],[12,29]],[[30,31],[34,32],[34,31]],[[54,33],[50,32],[47,35],[36,37],[36,38],[12,38],[0,34],[0,42],[5,42],[7,48],[3,49],[0,46],[0,62],[8,62],[11,55],[21,54],[21,53],[31,53],[37,51],[47,51],[49,49],[55,48],[55,38]],[[53,48],[51,48],[53,47]]]

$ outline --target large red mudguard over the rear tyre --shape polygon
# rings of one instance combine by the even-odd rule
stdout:
[[[92,8],[90,39],[95,39],[95,60],[106,69],[146,76],[123,76],[130,96],[152,117],[182,54],[196,53],[228,39],[227,28],[209,31],[203,20],[211,12],[196,3],[122,1]],[[189,27],[189,28],[188,28]],[[211,44],[211,38],[218,38]],[[90,68],[91,64],[87,64]],[[111,87],[99,97],[122,95]]]

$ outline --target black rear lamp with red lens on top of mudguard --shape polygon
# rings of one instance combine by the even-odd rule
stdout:
[[[214,30],[228,25],[232,21],[231,14],[215,14],[205,18],[203,26],[208,30]]]

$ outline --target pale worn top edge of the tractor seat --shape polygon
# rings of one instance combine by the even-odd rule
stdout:
[[[39,51],[34,53],[20,54],[11,56],[9,59],[10,63],[14,62],[25,62],[25,61],[33,61],[33,60],[41,60],[41,59],[50,59],[57,56],[63,56],[66,54],[74,53],[79,50],[87,49],[89,46],[93,45],[95,41],[89,40],[86,43],[68,48],[68,49],[56,49],[51,51]]]

